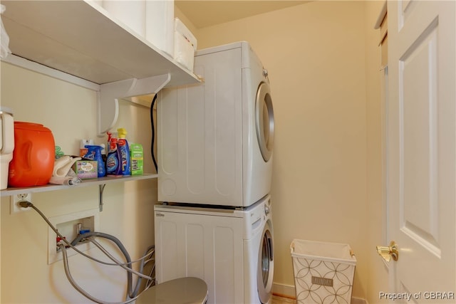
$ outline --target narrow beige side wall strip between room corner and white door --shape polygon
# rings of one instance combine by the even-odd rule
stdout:
[[[388,269],[375,246],[388,244],[385,239],[385,201],[383,200],[383,107],[381,84],[384,70],[380,70],[380,30],[373,30],[383,1],[366,1],[366,121],[367,121],[367,194],[368,194],[368,292],[369,303],[387,303],[380,300],[379,291],[388,290]]]

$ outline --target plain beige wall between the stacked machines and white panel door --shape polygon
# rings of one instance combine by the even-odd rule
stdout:
[[[382,4],[314,1],[196,33],[199,49],[249,41],[269,70],[276,120],[274,282],[294,285],[293,239],[349,243],[358,259],[353,296],[370,303],[378,302],[385,281],[373,250],[383,241],[379,33],[373,29]]]

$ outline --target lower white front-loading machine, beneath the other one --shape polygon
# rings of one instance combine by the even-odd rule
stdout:
[[[155,205],[157,283],[197,277],[207,303],[271,303],[271,199],[244,210]]]

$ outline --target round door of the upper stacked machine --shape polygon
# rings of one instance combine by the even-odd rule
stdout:
[[[259,150],[264,162],[267,162],[272,156],[272,145],[274,144],[274,110],[272,109],[271,91],[267,83],[260,83],[257,90],[255,120]]]

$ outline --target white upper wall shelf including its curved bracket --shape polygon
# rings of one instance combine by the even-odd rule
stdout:
[[[1,4],[6,6],[1,19],[15,56],[100,85],[99,135],[115,124],[118,98],[200,81],[95,1]],[[119,88],[113,89],[115,83]]]

